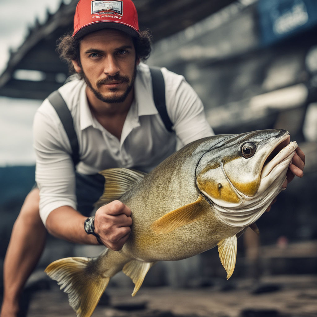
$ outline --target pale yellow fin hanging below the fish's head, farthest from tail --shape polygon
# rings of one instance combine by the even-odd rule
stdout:
[[[227,271],[227,280],[232,275],[236,266],[237,237],[230,236],[218,242],[218,252],[220,261]]]

